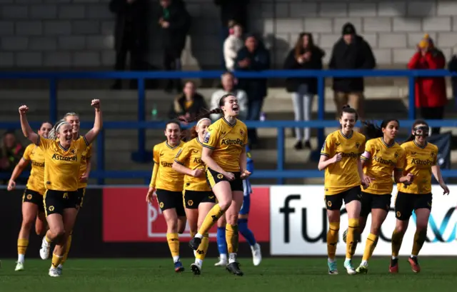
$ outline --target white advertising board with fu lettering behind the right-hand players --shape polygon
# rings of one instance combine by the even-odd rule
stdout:
[[[457,255],[457,186],[449,186],[451,194],[443,196],[440,186],[433,186],[431,218],[428,221],[428,241],[421,250],[422,256]],[[271,186],[270,188],[270,242],[273,256],[324,256],[327,254],[326,234],[328,220],[324,202],[323,186]],[[396,186],[393,188],[396,194]],[[395,228],[395,195],[391,200],[391,211],[381,227],[381,234],[373,256],[391,255],[391,236]],[[338,256],[346,254],[343,231],[348,226],[348,217],[342,207]],[[411,216],[408,231],[403,238],[400,255],[411,254],[415,217]],[[370,232],[371,215],[358,243],[356,255],[363,255],[365,241]]]

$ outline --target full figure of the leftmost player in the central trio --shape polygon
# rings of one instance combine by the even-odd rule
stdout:
[[[166,221],[166,241],[169,243],[176,273],[184,271],[179,258],[179,237],[186,228],[186,212],[183,204],[184,175],[176,172],[172,166],[174,158],[181,151],[181,126],[179,121],[169,121],[165,128],[166,141],[154,146],[154,169],[152,171],[146,202],[152,203],[157,197],[159,207]]]

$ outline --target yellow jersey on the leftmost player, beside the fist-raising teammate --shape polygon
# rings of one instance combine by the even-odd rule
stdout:
[[[46,188],[44,188],[44,153],[41,148],[35,144],[30,144],[24,151],[22,158],[25,161],[30,161],[31,171],[29,180],[27,181],[27,188],[31,191],[36,191],[44,195]]]

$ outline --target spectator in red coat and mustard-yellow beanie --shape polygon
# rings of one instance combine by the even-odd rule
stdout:
[[[446,58],[442,51],[433,45],[433,40],[426,34],[417,46],[417,52],[408,63],[408,69],[444,69]],[[416,109],[423,119],[438,120],[444,117],[446,79],[444,77],[419,77],[415,82]],[[433,128],[431,134],[440,134],[439,128]]]

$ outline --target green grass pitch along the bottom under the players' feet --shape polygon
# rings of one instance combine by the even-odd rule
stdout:
[[[359,263],[357,259],[355,263]],[[201,276],[194,276],[184,258],[186,271],[174,272],[171,258],[166,259],[72,259],[60,278],[48,276],[51,261],[28,260],[26,271],[15,272],[12,260],[2,261],[0,291],[5,292],[159,292],[159,291],[250,291],[250,292],[346,292],[346,291],[454,291],[457,265],[454,258],[421,258],[420,274],[415,275],[400,259],[400,273],[388,273],[388,258],[373,258],[366,275],[327,274],[326,258],[265,258],[254,267],[241,259],[245,276],[236,277],[214,267],[214,258],[206,259]]]

